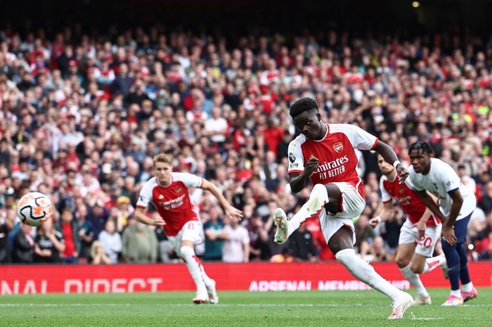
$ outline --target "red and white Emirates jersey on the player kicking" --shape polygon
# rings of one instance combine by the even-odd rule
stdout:
[[[290,142],[289,174],[302,172],[313,155],[319,160],[318,170],[311,175],[313,185],[345,181],[364,197],[364,187],[356,172],[358,159],[354,149],[373,150],[377,137],[351,124],[326,124],[326,127],[326,135],[321,140],[310,140],[300,134]]]

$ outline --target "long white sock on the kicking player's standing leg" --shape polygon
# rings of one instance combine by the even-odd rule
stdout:
[[[391,300],[396,300],[401,294],[401,290],[392,286],[389,281],[377,274],[373,266],[365,262],[361,257],[358,257],[354,249],[340,250],[335,257],[359,281],[391,297]]]

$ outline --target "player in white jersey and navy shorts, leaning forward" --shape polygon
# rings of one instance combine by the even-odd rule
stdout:
[[[425,142],[408,148],[412,167],[409,169],[413,188],[422,202],[443,222],[441,244],[448,262],[451,294],[442,305],[457,306],[478,296],[468,272],[467,226],[477,207],[477,198],[461,183],[455,170],[446,162],[432,158],[434,150]],[[439,206],[427,191],[439,197]],[[460,290],[460,281],[462,290]]]

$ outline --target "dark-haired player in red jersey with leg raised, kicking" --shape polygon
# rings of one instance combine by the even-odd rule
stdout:
[[[288,148],[290,188],[295,193],[302,191],[308,179],[314,186],[309,200],[290,220],[277,208],[275,241],[285,243],[301,224],[319,217],[325,240],[337,260],[359,281],[391,298],[393,312],[388,319],[402,318],[413,303],[412,296],[392,286],[354,251],[356,234],[352,219],[365,207],[354,149],[376,150],[395,167],[402,182],[408,177],[407,169],[392,148],[363,129],[351,124],[325,124],[318,103],[311,98],[301,98],[292,104],[290,115],[302,133]]]

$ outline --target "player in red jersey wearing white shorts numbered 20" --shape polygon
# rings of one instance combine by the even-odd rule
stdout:
[[[396,264],[417,292],[414,304],[431,304],[431,297],[418,274],[446,265],[444,254],[431,257],[441,236],[441,219],[425,206],[413,190],[410,179],[406,179],[403,184],[399,183],[396,169],[384,161],[381,155],[377,155],[377,165],[382,172],[380,190],[384,207],[379,216],[370,219],[369,224],[374,228],[389,219],[393,214],[393,200],[396,200],[407,217],[401,226]],[[431,196],[435,201],[436,198]]]

